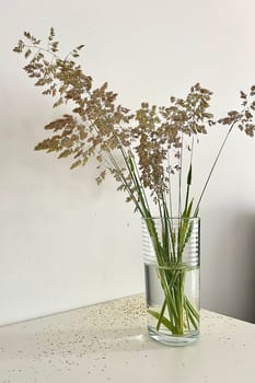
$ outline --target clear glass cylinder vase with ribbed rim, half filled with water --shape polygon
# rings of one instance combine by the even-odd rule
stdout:
[[[199,335],[200,220],[142,219],[149,335],[184,346]]]

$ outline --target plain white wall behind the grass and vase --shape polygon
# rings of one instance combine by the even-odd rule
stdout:
[[[0,0],[0,323],[68,310],[143,290],[140,219],[93,164],[34,152],[53,111],[11,48],[50,26],[62,51],[85,44],[83,68],[108,80],[119,102],[166,104],[199,81],[220,116],[255,83],[252,0]],[[196,153],[195,193],[222,128]],[[255,141],[236,131],[205,197],[201,295],[205,307],[255,320]]]

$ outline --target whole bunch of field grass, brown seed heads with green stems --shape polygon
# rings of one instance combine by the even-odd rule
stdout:
[[[200,202],[219,156],[234,127],[253,137],[255,86],[241,91],[240,111],[216,119],[209,112],[211,92],[193,85],[184,98],[171,96],[166,106],[142,102],[131,112],[116,103],[107,82],[94,88],[92,77],[78,63],[83,45],[59,57],[59,42],[50,28],[45,43],[25,32],[14,51],[24,54],[24,70],[54,98],[54,107],[68,104],[69,113],[45,126],[49,136],[35,150],[72,158],[71,169],[97,160],[97,184],[107,174],[143,221],[149,328],[151,333],[182,338],[197,334],[199,304],[194,280],[199,268]],[[192,195],[193,153],[200,135],[227,126],[201,193]],[[173,195],[175,196],[173,198]],[[177,198],[176,198],[177,195]],[[196,253],[196,254],[195,254]],[[195,254],[195,255],[194,255]],[[153,266],[153,271],[151,266]],[[195,279],[194,279],[195,278]],[[153,283],[160,293],[153,293]],[[189,286],[189,291],[186,290]],[[160,298],[159,298],[159,297]]]

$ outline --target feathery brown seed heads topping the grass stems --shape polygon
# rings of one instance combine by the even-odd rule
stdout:
[[[170,190],[170,175],[182,172],[184,151],[192,152],[194,138],[198,141],[208,128],[218,123],[232,129],[236,124],[247,136],[254,136],[255,85],[250,93],[240,92],[241,111],[231,111],[218,120],[209,112],[212,93],[199,83],[185,98],[171,96],[167,106],[142,102],[132,114],[116,103],[117,94],[108,90],[107,82],[94,88],[92,77],[77,62],[83,47],[79,45],[60,58],[59,42],[50,28],[45,46],[24,32],[13,49],[28,60],[25,72],[44,95],[54,98],[54,107],[71,105],[70,114],[45,126],[51,135],[35,150],[57,152],[58,159],[72,156],[71,169],[85,165],[94,156],[98,162],[97,184],[112,174],[137,210],[141,209],[144,190],[155,200]]]

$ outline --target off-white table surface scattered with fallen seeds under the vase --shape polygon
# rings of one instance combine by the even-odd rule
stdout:
[[[151,340],[142,294],[0,327],[0,383],[254,383],[255,325],[201,311],[186,347]]]

